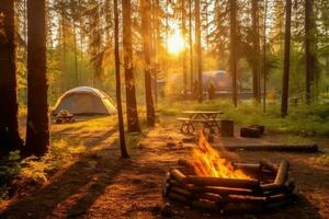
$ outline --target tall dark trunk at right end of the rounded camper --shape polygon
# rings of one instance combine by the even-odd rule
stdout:
[[[231,73],[231,92],[232,103],[238,105],[238,92],[237,92],[237,2],[230,2],[230,73]]]

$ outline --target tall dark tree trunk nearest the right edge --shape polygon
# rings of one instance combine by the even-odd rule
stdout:
[[[306,70],[306,103],[311,102],[311,85],[314,83],[314,72],[316,66],[316,48],[315,48],[315,22],[313,12],[313,0],[305,0],[305,70]]]

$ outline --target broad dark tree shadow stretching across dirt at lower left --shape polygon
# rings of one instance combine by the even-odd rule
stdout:
[[[101,143],[114,132],[105,132],[93,140],[92,145]],[[107,147],[81,157],[68,169],[57,173],[52,183],[27,197],[12,201],[0,212],[0,218],[61,218],[86,212],[115,176],[129,169],[131,161],[120,157],[118,149],[110,153]]]

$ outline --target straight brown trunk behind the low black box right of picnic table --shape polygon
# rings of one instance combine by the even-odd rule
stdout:
[[[259,82],[259,0],[252,0],[252,93],[253,99],[260,102]]]

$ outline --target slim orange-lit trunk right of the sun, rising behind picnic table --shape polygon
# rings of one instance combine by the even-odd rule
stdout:
[[[202,50],[201,50],[201,23],[200,23],[200,0],[195,0],[195,44],[196,44],[196,71],[198,77],[198,102],[203,101],[202,82]]]

